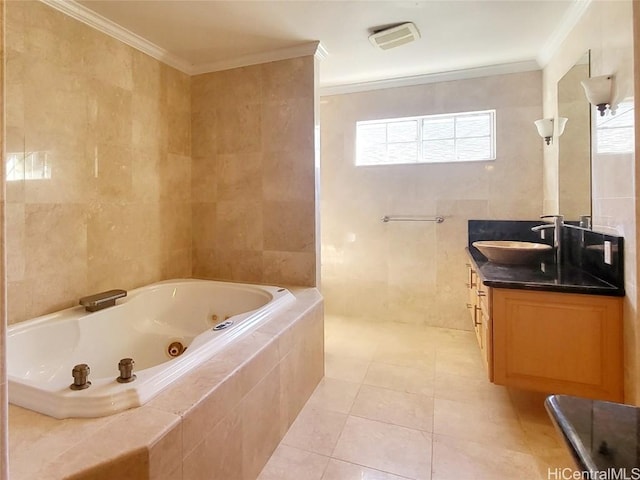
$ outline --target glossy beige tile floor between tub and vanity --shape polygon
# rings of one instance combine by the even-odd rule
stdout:
[[[325,339],[325,378],[259,480],[538,480],[571,466],[545,395],[489,383],[472,332],[327,316]]]

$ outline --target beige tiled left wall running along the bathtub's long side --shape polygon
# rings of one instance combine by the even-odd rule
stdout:
[[[7,3],[9,323],[191,274],[190,79],[35,1]],[[42,169],[40,169],[42,173]]]

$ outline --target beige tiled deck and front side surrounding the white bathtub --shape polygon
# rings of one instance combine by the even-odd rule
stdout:
[[[11,478],[253,480],[323,375],[322,298],[315,289],[292,291],[298,301],[263,331],[143,407],[56,420],[11,405]],[[289,340],[280,342],[282,334]]]

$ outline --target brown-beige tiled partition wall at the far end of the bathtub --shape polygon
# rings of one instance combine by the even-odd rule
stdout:
[[[192,78],[193,275],[316,284],[312,56]]]

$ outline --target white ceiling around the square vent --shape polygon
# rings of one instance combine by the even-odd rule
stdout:
[[[47,2],[49,3],[49,2]],[[320,86],[513,65],[544,66],[588,0],[81,0],[190,72],[278,58],[319,40]],[[411,21],[422,38],[381,51],[373,28]],[[235,62],[235,63],[234,63]],[[171,62],[169,62],[171,63]]]

